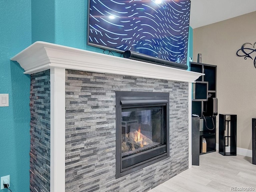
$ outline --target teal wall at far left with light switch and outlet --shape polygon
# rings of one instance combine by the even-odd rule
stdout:
[[[9,107],[0,107],[0,177],[10,175],[12,192],[29,192],[30,76],[10,58],[30,44],[31,1],[1,0],[0,93]]]

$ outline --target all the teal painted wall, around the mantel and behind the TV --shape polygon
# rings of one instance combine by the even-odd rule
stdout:
[[[12,192],[30,191],[30,76],[10,58],[36,41],[102,53],[86,45],[86,15],[87,0],[0,1],[0,93],[10,97],[10,106],[0,107],[0,177],[10,175]],[[192,38],[190,28],[191,57]]]

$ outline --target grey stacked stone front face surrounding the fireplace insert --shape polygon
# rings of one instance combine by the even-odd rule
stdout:
[[[115,91],[170,92],[170,158],[119,179]],[[187,168],[187,82],[66,70],[66,192],[144,192]]]

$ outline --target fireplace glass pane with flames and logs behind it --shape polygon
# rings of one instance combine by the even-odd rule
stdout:
[[[163,106],[122,108],[122,158],[166,144]]]

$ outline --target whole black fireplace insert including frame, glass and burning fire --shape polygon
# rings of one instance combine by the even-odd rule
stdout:
[[[169,156],[169,93],[116,92],[116,178]]]

